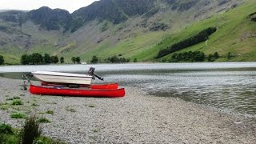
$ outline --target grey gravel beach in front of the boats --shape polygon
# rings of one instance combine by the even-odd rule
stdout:
[[[124,98],[38,96],[22,80],[0,78],[0,122],[15,127],[21,112],[45,117],[42,134],[67,143],[255,143],[256,119],[178,98],[154,97],[125,87]],[[22,106],[7,98],[20,97]],[[51,110],[54,114],[46,114]]]

